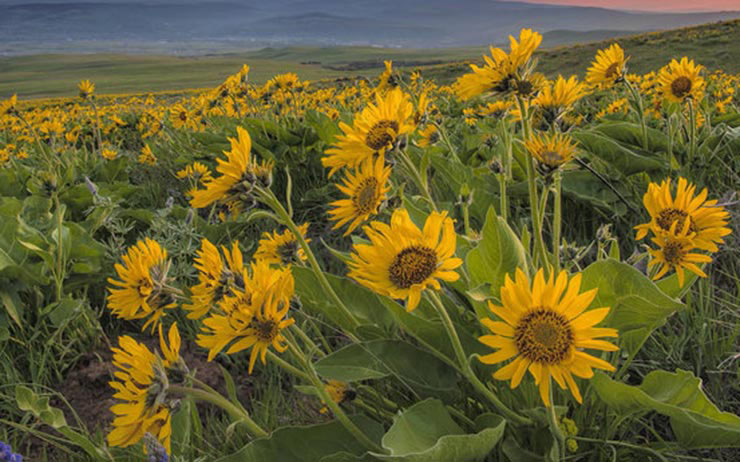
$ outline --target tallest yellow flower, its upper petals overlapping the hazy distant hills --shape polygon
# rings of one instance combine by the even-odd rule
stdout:
[[[468,100],[483,93],[508,93],[518,90],[529,74],[528,63],[542,43],[542,35],[531,29],[522,29],[519,41],[509,36],[510,52],[490,47],[491,56],[483,56],[485,64],[471,64],[472,73],[458,78],[453,85],[455,93]],[[529,92],[527,92],[529,93]]]

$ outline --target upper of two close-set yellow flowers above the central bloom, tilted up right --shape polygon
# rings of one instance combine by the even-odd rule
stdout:
[[[330,167],[331,177],[340,168],[357,167],[368,157],[382,155],[396,144],[401,135],[414,130],[414,106],[409,96],[394,88],[384,95],[376,94],[375,103],[370,103],[355,116],[352,126],[339,123],[344,132],[337,138],[336,146],[326,150],[321,159],[324,167]]]

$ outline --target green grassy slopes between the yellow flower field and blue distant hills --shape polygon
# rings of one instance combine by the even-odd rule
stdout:
[[[631,72],[647,72],[671,58],[687,55],[710,69],[740,72],[740,20],[617,39],[632,56]],[[539,69],[583,73],[596,51],[610,41],[550,48],[539,53]],[[0,59],[0,98],[69,96],[81,79],[91,79],[101,93],[127,93],[213,87],[251,66],[257,83],[275,74],[296,72],[302,79],[375,75],[384,59],[397,66],[421,66],[427,75],[449,82],[467,70],[461,61],[478,60],[485,47],[384,49],[333,47],[284,49],[200,57],[120,54],[34,55]]]

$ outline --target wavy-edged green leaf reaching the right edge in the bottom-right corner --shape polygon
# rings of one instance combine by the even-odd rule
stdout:
[[[653,371],[639,387],[597,373],[592,383],[619,413],[656,411],[670,417],[676,439],[685,447],[740,447],[740,417],[717,409],[702,392],[701,379],[690,372]]]

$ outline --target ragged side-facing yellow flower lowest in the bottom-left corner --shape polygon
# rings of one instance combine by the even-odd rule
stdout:
[[[168,344],[169,343],[169,344]],[[164,358],[152,353],[146,345],[124,336],[118,339],[118,348],[112,348],[117,381],[109,382],[116,390],[114,398],[122,401],[111,407],[115,415],[108,444],[127,447],[151,433],[170,452],[172,404],[167,399],[170,382],[167,372],[177,367],[187,371],[180,359],[180,333],[177,324],[169,330],[168,342],[159,329],[159,344]],[[176,376],[182,376],[178,373]]]

